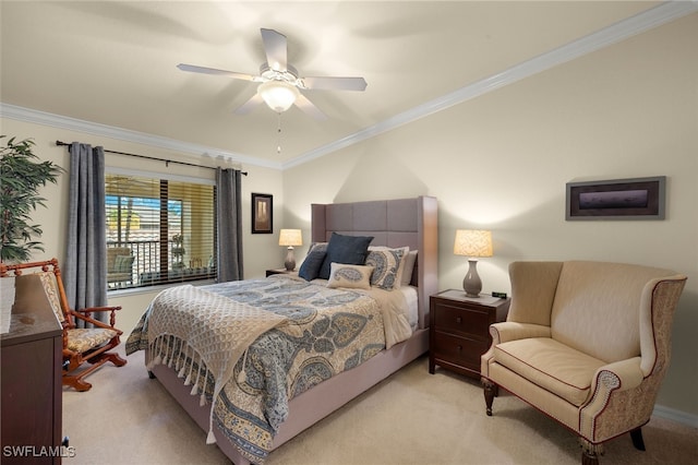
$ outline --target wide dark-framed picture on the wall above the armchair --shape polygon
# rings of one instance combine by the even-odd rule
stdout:
[[[664,219],[665,176],[567,182],[566,219]]]

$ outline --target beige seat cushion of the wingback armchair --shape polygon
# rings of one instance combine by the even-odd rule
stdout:
[[[603,360],[547,337],[497,344],[494,359],[576,406],[587,400],[593,374],[605,365]]]

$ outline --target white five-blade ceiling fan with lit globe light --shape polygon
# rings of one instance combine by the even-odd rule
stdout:
[[[266,62],[260,65],[258,75],[184,63],[178,64],[177,68],[194,73],[216,74],[258,82],[260,86],[256,94],[234,111],[238,115],[245,115],[264,102],[278,114],[296,105],[313,118],[326,119],[326,116],[300,92],[301,90],[361,92],[366,88],[366,81],[363,78],[299,76],[296,68],[291,67],[287,61],[286,36],[274,29],[262,28],[261,31]]]

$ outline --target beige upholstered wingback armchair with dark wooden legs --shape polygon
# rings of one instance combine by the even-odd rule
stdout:
[[[582,464],[640,428],[669,367],[673,312],[686,276],[603,262],[515,262],[506,322],[482,356],[488,415],[498,388],[579,434]]]

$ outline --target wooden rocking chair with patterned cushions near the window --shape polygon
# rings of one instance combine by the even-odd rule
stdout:
[[[32,272],[24,273],[27,270]],[[83,380],[87,374],[107,361],[117,367],[127,363],[118,354],[109,351],[119,345],[119,336],[123,334],[115,327],[116,311],[121,307],[71,309],[58,260],[11,265],[0,263],[0,277],[9,276],[15,278],[13,313],[23,313],[37,305],[49,305],[63,326],[63,385],[87,391],[92,388]],[[99,312],[109,312],[109,324],[93,318]],[[76,327],[76,321],[91,323],[92,327]],[[82,367],[85,362],[91,366]]]

